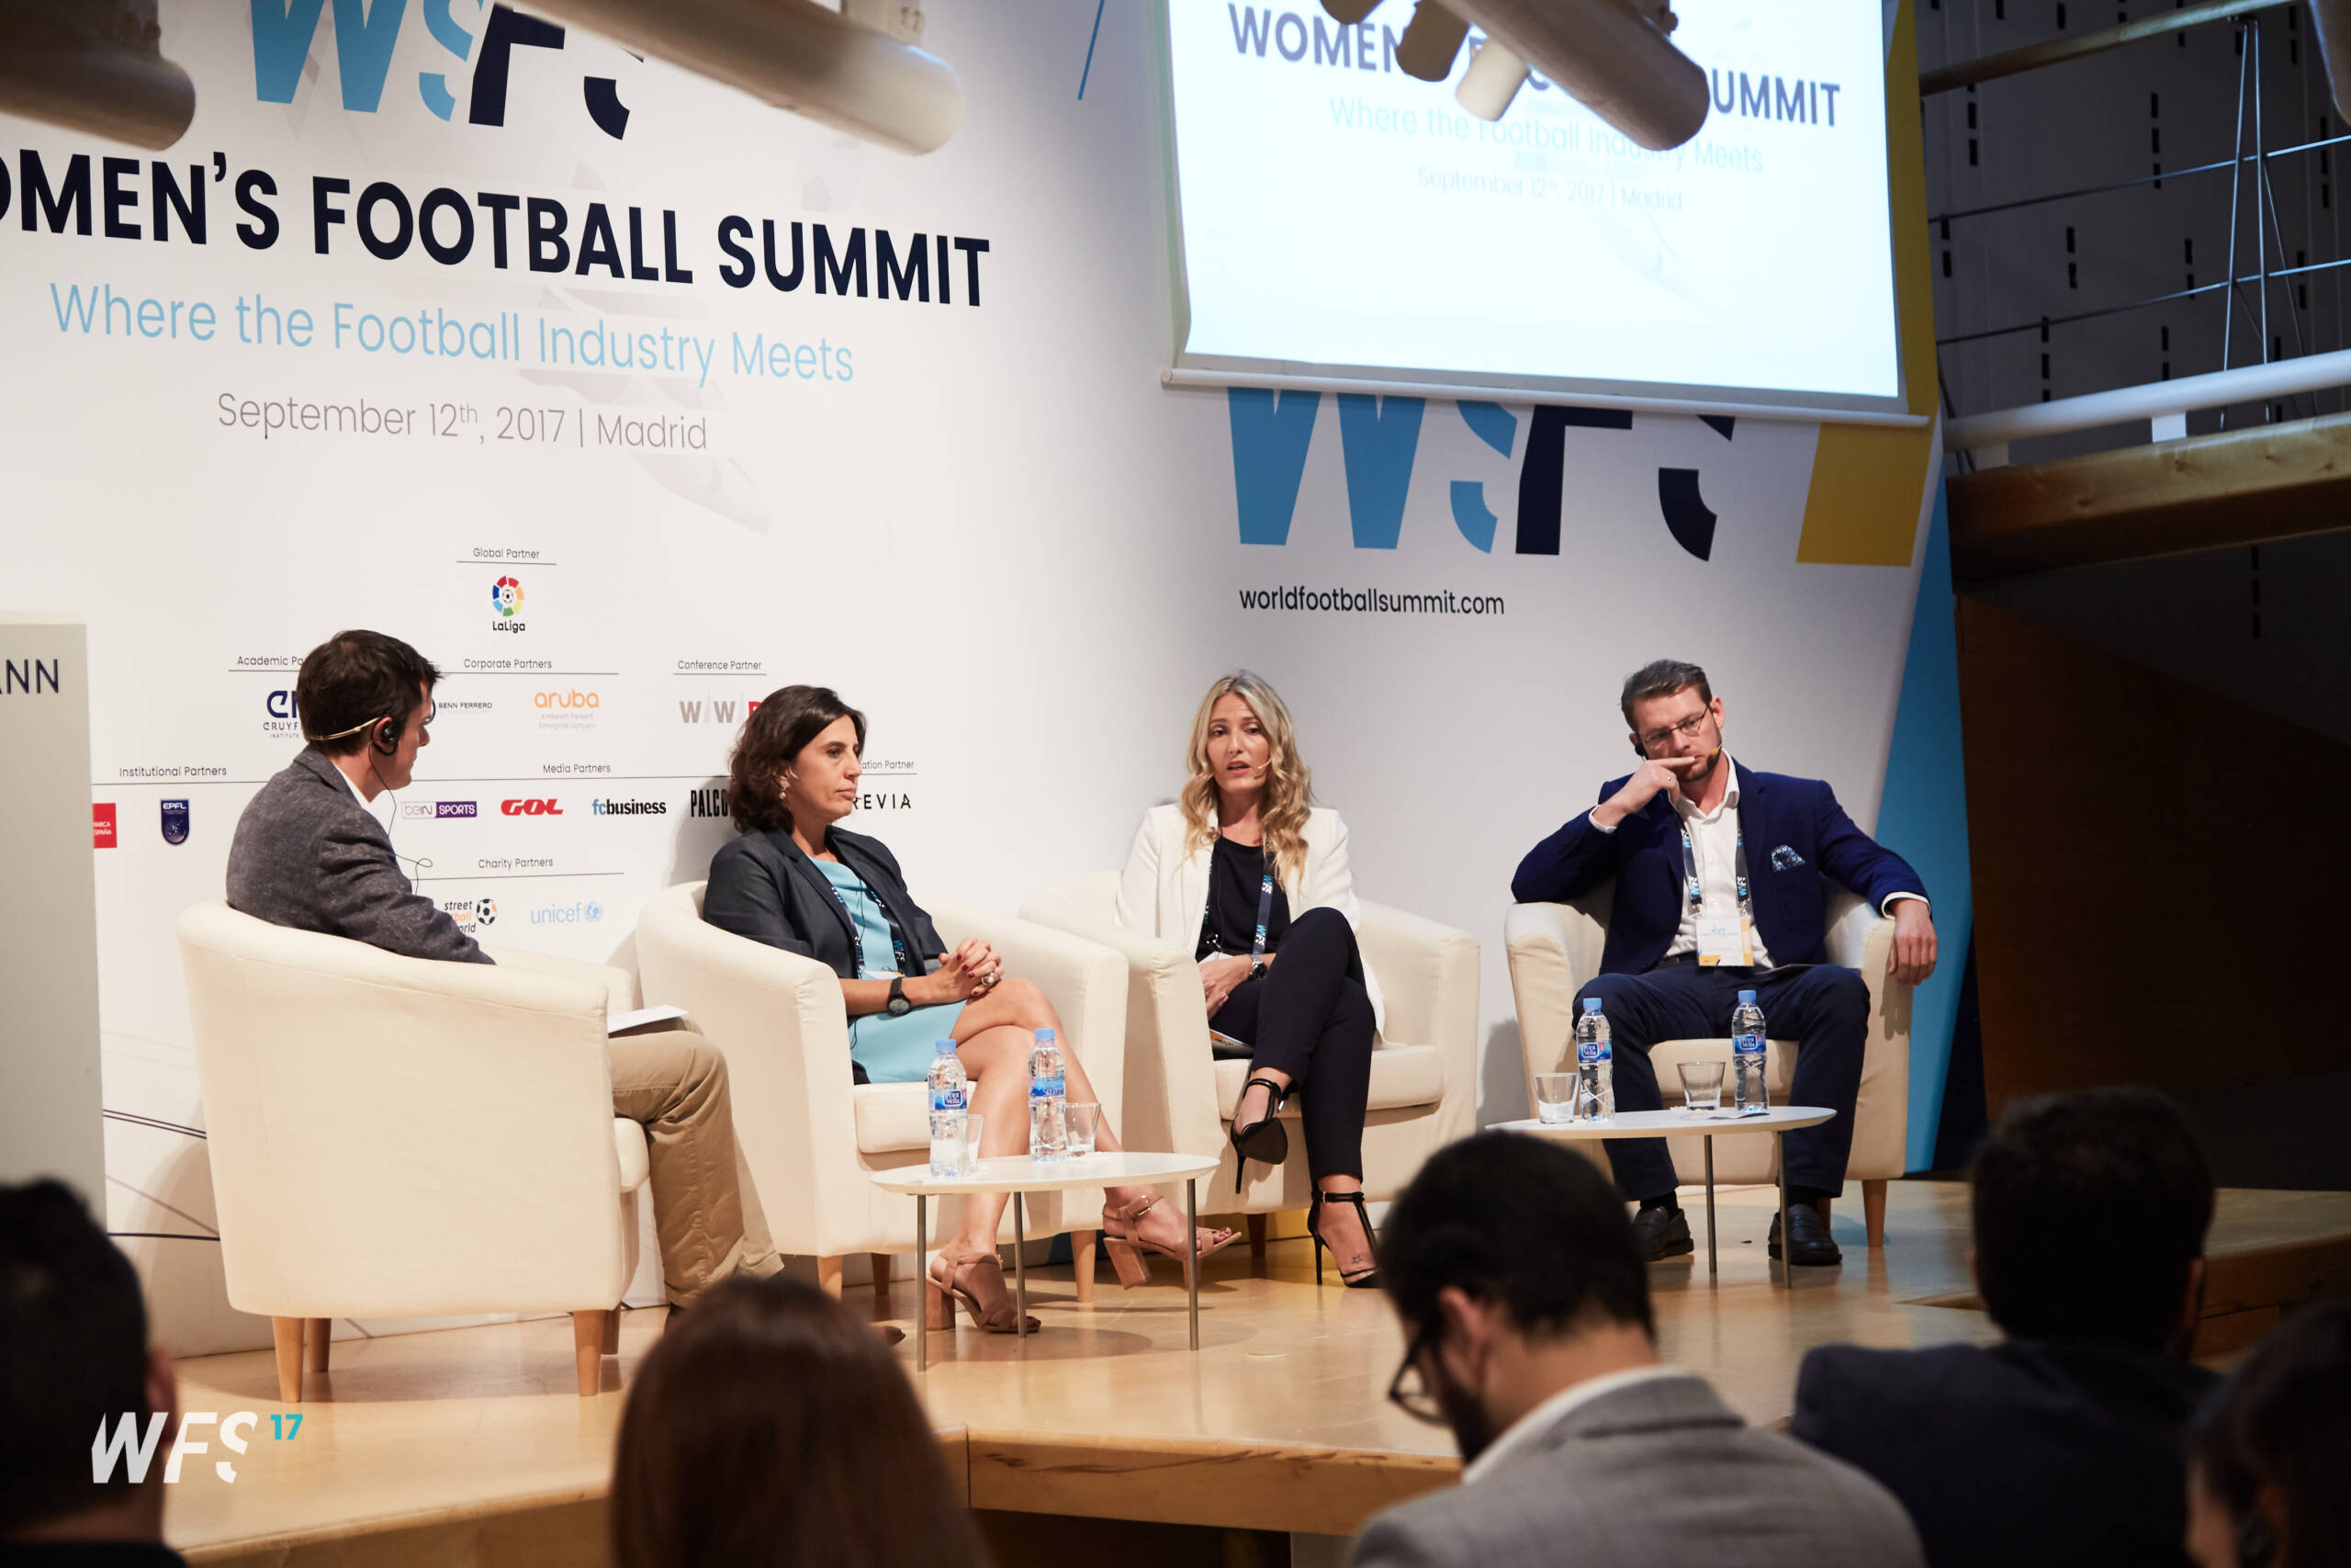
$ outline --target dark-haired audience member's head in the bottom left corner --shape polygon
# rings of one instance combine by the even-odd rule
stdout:
[[[162,1415],[179,1427],[172,1361],[148,1352],[139,1274],[61,1182],[0,1187],[0,1542],[162,1540],[162,1465],[89,1479],[89,1443]]]

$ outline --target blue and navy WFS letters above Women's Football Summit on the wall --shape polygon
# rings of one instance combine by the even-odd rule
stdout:
[[[301,87],[301,68],[317,38],[317,19],[327,0],[254,0],[254,96],[263,103],[292,103]],[[433,42],[456,56],[473,59],[473,87],[465,94],[468,125],[505,125],[505,82],[515,68],[515,49],[562,49],[564,31],[552,21],[524,16],[505,5],[482,0],[423,0],[426,31]],[[468,31],[458,21],[475,24]],[[407,0],[334,0],[334,63],[341,78],[343,108],[371,115],[383,106],[383,87],[393,75],[393,45],[407,21]],[[482,45],[475,56],[475,42]],[[447,71],[416,73],[416,96],[437,118],[456,115],[456,92]],[[618,141],[628,134],[628,106],[621,85],[609,75],[581,78],[581,101],[600,132]]]

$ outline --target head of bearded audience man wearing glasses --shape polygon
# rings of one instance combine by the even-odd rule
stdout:
[[[1432,1154],[1387,1211],[1380,1284],[1411,1342],[1389,1399],[1451,1425],[1465,1460],[1559,1389],[1655,1361],[1625,1204],[1535,1138]]]

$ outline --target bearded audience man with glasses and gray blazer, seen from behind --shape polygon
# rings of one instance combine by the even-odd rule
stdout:
[[[1481,1133],[1429,1157],[1389,1208],[1380,1284],[1411,1335],[1389,1399],[1451,1425],[1467,1469],[1373,1519],[1357,1568],[1921,1568],[1893,1493],[1657,1361],[1625,1204],[1559,1145]]]

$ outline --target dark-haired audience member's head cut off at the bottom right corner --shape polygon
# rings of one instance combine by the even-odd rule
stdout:
[[[2198,1568],[2351,1563],[2351,1302],[2278,1324],[2189,1439]]]

